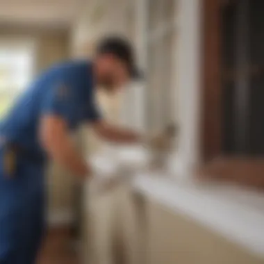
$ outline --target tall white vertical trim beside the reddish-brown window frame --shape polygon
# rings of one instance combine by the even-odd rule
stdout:
[[[176,97],[179,123],[178,162],[185,174],[199,163],[200,0],[178,1],[176,44]],[[179,119],[178,119],[179,117]],[[177,173],[177,172],[176,172]]]

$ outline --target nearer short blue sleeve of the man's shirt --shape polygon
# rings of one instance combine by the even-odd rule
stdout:
[[[42,115],[55,115],[69,122],[74,115],[74,90],[67,81],[58,81],[47,88],[41,106]]]

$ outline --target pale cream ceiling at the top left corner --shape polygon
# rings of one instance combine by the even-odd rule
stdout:
[[[0,25],[67,27],[84,0],[0,0]]]

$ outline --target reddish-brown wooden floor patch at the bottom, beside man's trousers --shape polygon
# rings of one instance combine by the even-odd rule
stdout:
[[[38,264],[79,264],[69,239],[69,229],[53,229],[44,240]]]

